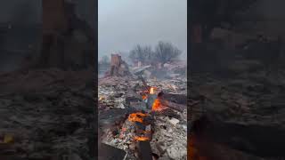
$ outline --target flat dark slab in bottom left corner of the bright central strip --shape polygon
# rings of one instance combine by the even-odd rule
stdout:
[[[110,145],[100,144],[99,146],[99,160],[123,160],[126,156],[126,152],[119,148],[114,148]]]

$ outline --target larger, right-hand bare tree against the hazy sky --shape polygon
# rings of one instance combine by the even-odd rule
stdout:
[[[163,66],[167,62],[177,60],[181,53],[175,45],[160,41],[155,48],[154,58]]]

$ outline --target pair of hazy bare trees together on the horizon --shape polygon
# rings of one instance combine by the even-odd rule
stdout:
[[[142,64],[160,63],[163,66],[167,62],[177,60],[181,53],[174,44],[160,41],[154,50],[150,45],[135,45],[129,52],[129,58],[133,61],[139,60]]]

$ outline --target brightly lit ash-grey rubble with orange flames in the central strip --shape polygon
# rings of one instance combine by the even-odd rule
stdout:
[[[99,141],[125,159],[186,159],[186,78],[125,73],[99,79]]]

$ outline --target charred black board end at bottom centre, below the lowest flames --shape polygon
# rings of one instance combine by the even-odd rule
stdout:
[[[136,145],[140,160],[152,160],[150,141],[138,141]]]

